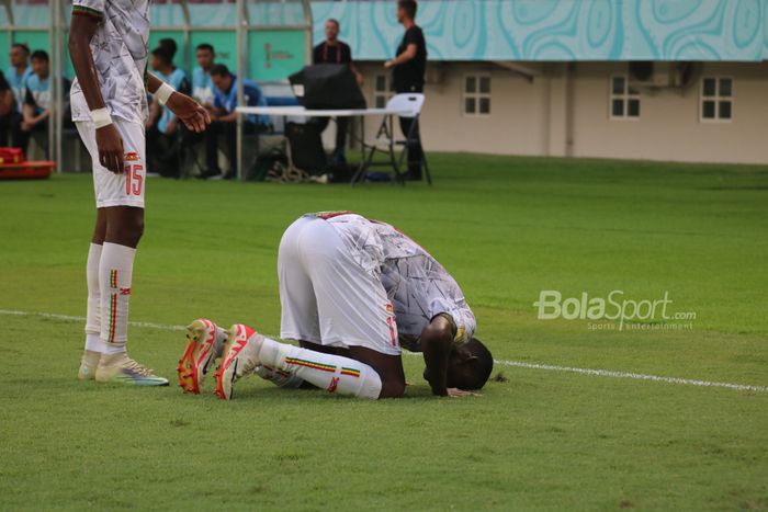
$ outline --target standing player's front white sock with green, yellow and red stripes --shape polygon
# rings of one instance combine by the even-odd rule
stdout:
[[[128,339],[128,298],[136,249],[104,242],[99,262],[101,340],[104,353],[125,352]]]

